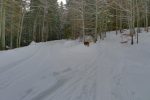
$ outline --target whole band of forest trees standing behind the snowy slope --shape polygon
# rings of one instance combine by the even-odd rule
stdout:
[[[133,44],[140,27],[148,32],[149,13],[149,0],[67,0],[66,5],[57,0],[0,0],[0,49],[89,34],[104,39],[107,31],[118,34],[123,29],[130,30]]]

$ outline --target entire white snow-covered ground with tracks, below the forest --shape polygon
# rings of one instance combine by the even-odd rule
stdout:
[[[97,44],[32,42],[0,52],[0,100],[149,100],[150,34],[121,44],[107,33]]]

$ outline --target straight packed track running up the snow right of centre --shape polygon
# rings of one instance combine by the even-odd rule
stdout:
[[[111,84],[112,84],[112,65],[109,62],[108,56],[109,50],[111,48],[107,48],[105,44],[101,44],[103,47],[103,54],[99,57],[98,69],[97,69],[97,91],[96,91],[96,100],[112,100],[111,99]]]

